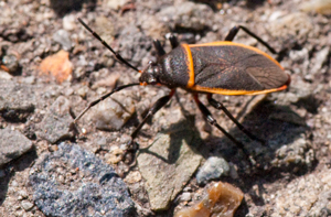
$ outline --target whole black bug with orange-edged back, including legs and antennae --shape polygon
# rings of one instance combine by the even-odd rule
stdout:
[[[223,106],[213,98],[213,94],[220,95],[259,95],[286,89],[290,84],[290,76],[284,72],[280,64],[268,54],[258,48],[232,42],[239,30],[256,39],[273,54],[277,52],[265,41],[242,25],[233,28],[224,41],[205,44],[180,44],[174,35],[169,37],[172,51],[166,53],[160,41],[154,40],[157,61],[150,61],[143,70],[139,70],[121,55],[115,52],[97,33],[95,33],[81,19],[78,21],[98,41],[103,43],[116,58],[141,74],[139,83],[118,86],[110,93],[92,101],[74,120],[74,123],[93,106],[106,99],[114,93],[132,86],[163,85],[169,87],[170,94],[158,99],[149,109],[147,116],[131,133],[131,144],[142,126],[158,110],[166,106],[175,93],[175,88],[183,88],[192,93],[194,100],[207,120],[207,122],[222,131],[232,140],[248,158],[249,153],[243,143],[226,132],[213,118],[210,110],[200,99],[199,94],[206,94],[209,104],[223,110],[225,115],[253,140],[264,142],[246,130]]]

